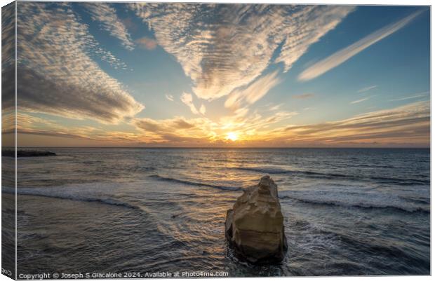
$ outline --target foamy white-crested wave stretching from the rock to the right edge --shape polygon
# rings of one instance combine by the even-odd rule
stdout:
[[[296,196],[280,196],[279,198],[297,200],[298,202],[301,203],[308,203],[314,205],[332,205],[337,207],[356,207],[356,208],[363,208],[363,209],[389,209],[389,210],[408,212],[408,213],[415,213],[415,212],[422,212],[425,214],[430,213],[430,210],[417,206],[399,206],[399,205],[387,205],[382,203],[379,204],[379,203],[363,203],[363,202],[352,203],[352,202],[345,202],[345,201],[338,201],[338,200],[316,200],[312,198],[298,198]]]

